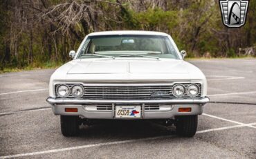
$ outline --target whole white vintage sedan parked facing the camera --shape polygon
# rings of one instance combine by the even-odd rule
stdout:
[[[87,35],[50,79],[53,113],[65,136],[97,119],[154,120],[193,136],[209,102],[205,75],[185,62],[163,32],[109,31]]]

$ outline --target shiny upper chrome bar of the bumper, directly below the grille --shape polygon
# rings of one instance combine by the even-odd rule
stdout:
[[[125,104],[139,104],[139,103],[166,103],[166,104],[206,104],[210,101],[209,97],[199,99],[172,99],[172,100],[84,100],[71,98],[54,98],[48,97],[46,100],[49,104],[100,104],[100,103],[125,103]]]

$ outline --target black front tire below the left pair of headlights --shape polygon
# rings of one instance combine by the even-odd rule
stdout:
[[[78,116],[60,116],[60,126],[62,129],[62,135],[74,136],[79,131],[79,117]]]

